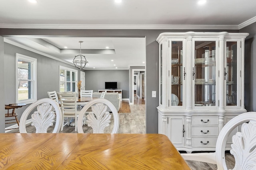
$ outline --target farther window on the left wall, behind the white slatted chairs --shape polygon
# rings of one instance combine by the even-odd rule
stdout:
[[[76,92],[77,70],[60,66],[60,92]]]

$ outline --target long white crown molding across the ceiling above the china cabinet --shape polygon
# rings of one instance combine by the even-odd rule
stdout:
[[[0,28],[14,29],[238,29],[238,25],[86,25],[86,24],[6,24]]]

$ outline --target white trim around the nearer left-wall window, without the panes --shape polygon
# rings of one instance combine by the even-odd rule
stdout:
[[[31,74],[31,81],[32,81],[32,96],[31,99],[27,99],[27,100],[20,100],[18,101],[18,59],[21,59],[23,61],[28,61],[31,62],[32,67],[32,74]],[[26,55],[22,55],[22,54],[18,54],[16,53],[16,62],[15,62],[15,68],[16,68],[16,103],[24,103],[24,104],[31,104],[36,102],[37,100],[37,85],[36,85],[36,63],[37,63],[37,59],[32,58],[32,57],[28,57]]]

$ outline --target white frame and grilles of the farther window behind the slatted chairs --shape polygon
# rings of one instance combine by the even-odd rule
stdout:
[[[60,70],[65,70],[65,74],[64,74],[64,76],[65,76],[65,80],[64,81],[60,81]],[[70,81],[67,81],[67,71],[70,71]],[[75,81],[72,81],[72,72],[75,72]],[[75,69],[72,69],[72,68],[68,68],[68,67],[65,67],[65,66],[60,66],[59,67],[59,92],[61,92],[61,90],[60,90],[60,83],[61,82],[64,82],[64,92],[66,92],[67,91],[67,89],[66,89],[66,87],[67,87],[67,82],[70,82],[70,90],[72,90],[73,89],[73,82],[75,83],[75,87],[74,87],[74,89],[75,89],[75,91],[74,92],[77,92],[77,82],[78,82],[78,70],[75,70]],[[73,91],[72,91],[73,92]]]

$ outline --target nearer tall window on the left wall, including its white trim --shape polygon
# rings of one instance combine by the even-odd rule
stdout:
[[[16,53],[16,103],[36,100],[36,59]]]

